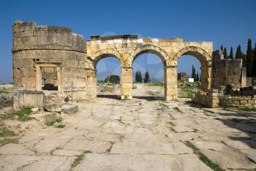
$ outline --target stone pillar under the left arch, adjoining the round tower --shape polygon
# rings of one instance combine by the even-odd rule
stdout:
[[[96,99],[97,97],[97,78],[96,70],[88,69],[86,70],[87,75],[87,97],[88,99]]]

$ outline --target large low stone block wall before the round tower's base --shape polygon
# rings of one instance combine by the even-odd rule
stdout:
[[[13,95],[13,110],[26,107],[44,107],[45,94],[43,91],[15,90]]]

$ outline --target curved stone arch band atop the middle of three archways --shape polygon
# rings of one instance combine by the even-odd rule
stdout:
[[[132,58],[132,63],[138,56],[140,56],[143,53],[154,53],[155,55],[159,56],[164,66],[166,65],[166,61],[168,61],[169,59],[169,56],[167,55],[165,50],[162,50],[162,48],[157,47],[155,45],[142,45],[135,50],[134,56]]]

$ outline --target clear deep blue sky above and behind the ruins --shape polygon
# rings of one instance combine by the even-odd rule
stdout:
[[[69,26],[85,39],[99,34],[138,34],[140,37],[181,37],[187,41],[212,41],[214,50],[256,40],[255,0],[158,1],[0,1],[0,82],[12,81],[12,24],[34,20],[39,25]],[[229,51],[229,50],[228,50]],[[143,68],[148,61],[138,57]],[[157,60],[157,57],[152,56]],[[103,59],[104,60],[104,59]],[[107,58],[106,58],[107,60]],[[183,59],[182,59],[183,60]],[[179,62],[191,72],[192,58]],[[116,63],[115,63],[116,64]],[[138,67],[140,69],[140,67]],[[147,68],[146,68],[147,69]],[[150,70],[150,69],[148,69]]]

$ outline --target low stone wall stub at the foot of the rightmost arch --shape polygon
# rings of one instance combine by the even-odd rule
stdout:
[[[219,107],[219,94],[216,92],[197,91],[192,102],[205,107]]]

